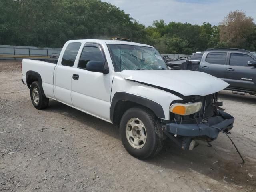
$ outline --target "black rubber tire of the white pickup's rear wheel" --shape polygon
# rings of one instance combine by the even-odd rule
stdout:
[[[34,88],[35,88],[35,90],[38,91],[38,94],[37,94],[37,96],[38,96],[38,103],[35,102],[34,98],[33,98],[33,90],[34,90]],[[32,104],[37,109],[45,109],[45,108],[47,108],[47,106],[49,104],[49,98],[44,97],[43,90],[42,90],[41,86],[39,85],[38,81],[34,81],[31,84],[31,87],[30,87],[30,98],[31,98]]]

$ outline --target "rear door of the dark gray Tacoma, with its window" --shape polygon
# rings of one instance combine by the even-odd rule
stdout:
[[[205,52],[200,63],[199,71],[224,79],[227,58],[227,52]]]

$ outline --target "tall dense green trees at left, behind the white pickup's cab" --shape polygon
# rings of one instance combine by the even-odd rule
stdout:
[[[0,44],[62,47],[67,40],[121,36],[145,42],[145,26],[99,0],[0,0]]]

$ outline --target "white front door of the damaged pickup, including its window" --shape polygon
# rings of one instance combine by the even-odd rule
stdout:
[[[76,77],[72,79],[71,99],[73,105],[93,116],[110,121],[110,96],[113,74],[103,74],[86,70],[89,61],[101,61],[108,67],[102,47],[86,43],[78,65],[74,68]]]

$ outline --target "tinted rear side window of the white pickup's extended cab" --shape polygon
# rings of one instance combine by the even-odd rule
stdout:
[[[63,54],[61,64],[64,66],[72,67],[76,60],[76,55],[81,46],[81,43],[70,43],[66,47],[66,50]]]

